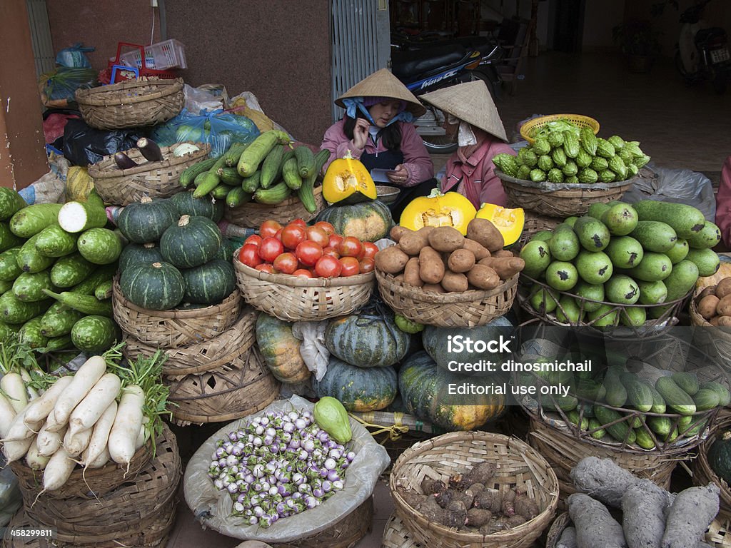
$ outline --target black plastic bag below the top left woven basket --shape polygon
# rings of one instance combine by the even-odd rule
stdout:
[[[137,146],[137,129],[94,129],[83,120],[69,120],[64,128],[64,156],[75,166],[96,164],[104,156]]]

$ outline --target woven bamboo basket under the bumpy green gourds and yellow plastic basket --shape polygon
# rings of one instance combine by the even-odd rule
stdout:
[[[591,204],[607,203],[621,199],[634,183],[634,178],[618,180],[613,183],[577,183],[570,188],[553,190],[554,183],[516,179],[500,170],[495,174],[502,180],[503,189],[511,204],[527,211],[548,217],[566,218],[583,215]]]

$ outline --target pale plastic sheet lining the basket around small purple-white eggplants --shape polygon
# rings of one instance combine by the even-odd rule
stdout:
[[[313,408],[314,405],[307,400],[292,396],[289,400],[275,401],[255,416],[292,409],[312,411]],[[208,467],[211,465],[211,454],[216,448],[216,441],[240,425],[246,425],[248,419],[240,419],[222,427],[195,452],[183,479],[186,503],[202,525],[235,539],[270,543],[293,542],[330,528],[371,496],[379,476],[390,465],[386,449],[374,440],[363,425],[355,419],[349,420],[353,438],[346,444],[346,448],[355,452],[355,460],[347,469],[344,489],[320,506],[279,520],[270,528],[248,525],[243,518],[231,516],[233,501],[227,492],[213,487],[213,482],[208,477]]]

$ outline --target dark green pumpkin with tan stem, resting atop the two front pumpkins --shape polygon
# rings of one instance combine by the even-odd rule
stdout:
[[[193,268],[213,259],[222,240],[221,230],[211,219],[183,215],[160,238],[160,252],[178,268]]]

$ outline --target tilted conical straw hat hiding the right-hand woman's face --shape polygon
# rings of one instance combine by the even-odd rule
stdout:
[[[507,141],[498,109],[482,80],[452,85],[423,94],[422,99],[472,126]]]

